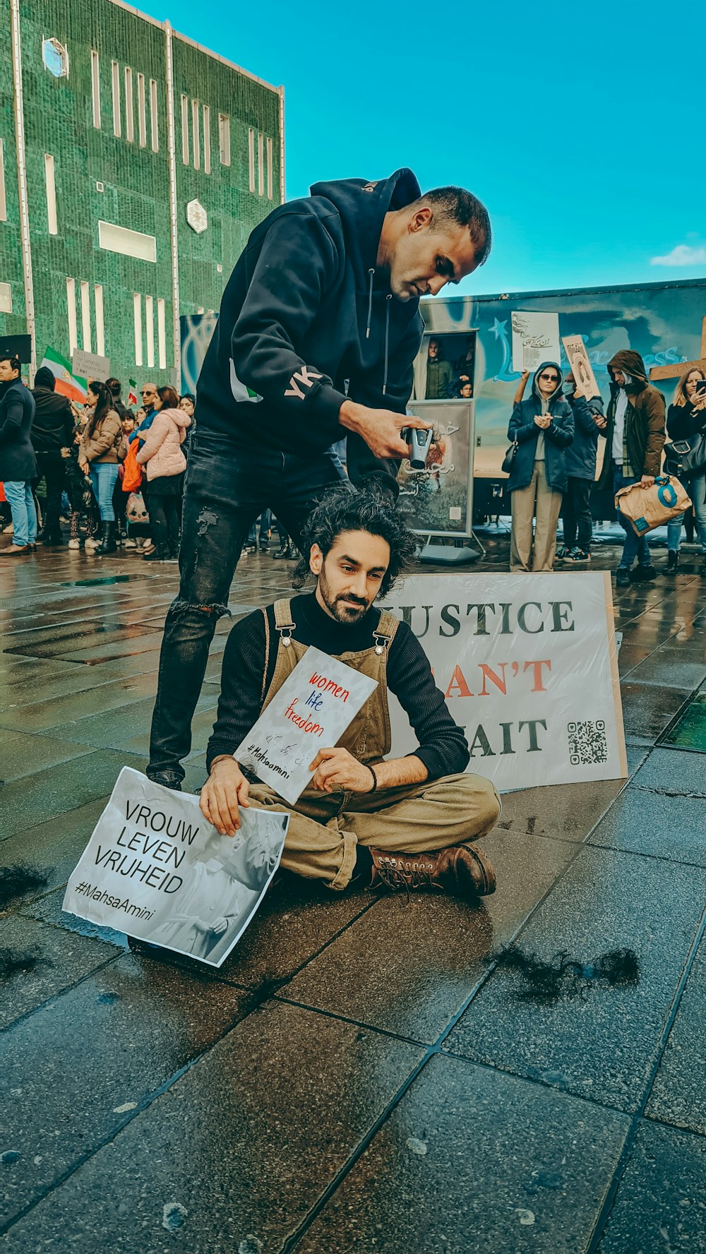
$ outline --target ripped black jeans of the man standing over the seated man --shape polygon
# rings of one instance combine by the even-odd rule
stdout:
[[[256,409],[256,406],[253,406]],[[189,450],[179,551],[179,594],[164,623],[147,774],[181,782],[216,623],[247,533],[272,509],[298,543],[326,488],[344,479],[334,449],[297,458],[197,430]]]

